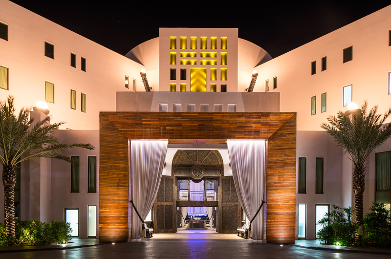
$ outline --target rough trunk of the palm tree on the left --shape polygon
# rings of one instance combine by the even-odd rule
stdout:
[[[15,237],[15,182],[16,173],[11,166],[3,167],[2,175],[4,185],[4,205],[5,205],[5,229],[7,236]]]

